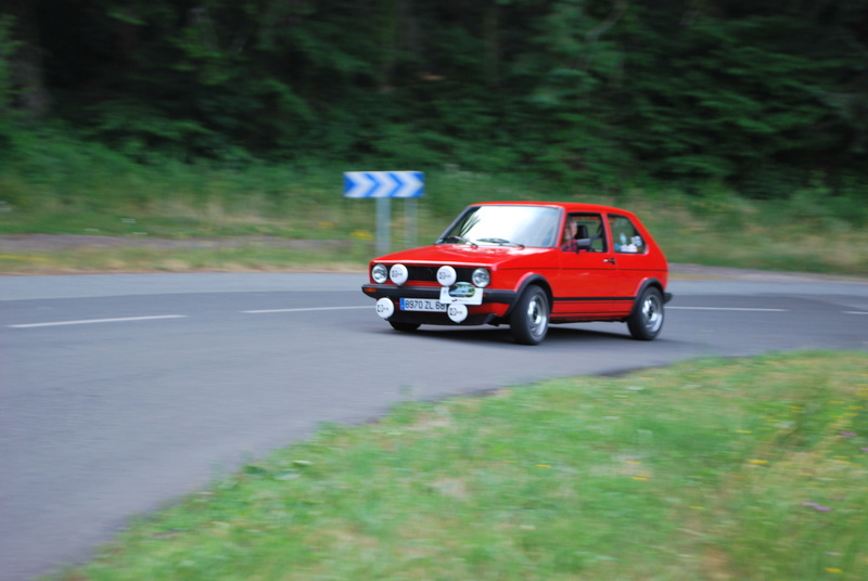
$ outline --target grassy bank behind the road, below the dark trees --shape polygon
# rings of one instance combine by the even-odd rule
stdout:
[[[0,272],[345,269],[362,268],[375,253],[374,202],[343,197],[342,172],[358,168],[141,166],[111,152],[72,147],[49,149],[46,155],[0,168],[0,236],[108,236],[124,244],[16,249],[7,243]],[[393,204],[394,249],[406,241],[435,240],[472,202],[561,199],[635,211],[673,262],[868,274],[868,207],[855,194],[837,197],[817,188],[788,199],[748,201],[713,185],[692,195],[659,188],[600,194],[522,176],[421,169],[426,193],[416,231],[404,203]],[[344,244],[299,255],[261,237]],[[139,244],[222,238],[248,242],[227,251]]]

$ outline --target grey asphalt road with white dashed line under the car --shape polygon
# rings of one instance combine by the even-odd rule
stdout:
[[[702,356],[868,349],[868,282],[675,280],[661,337],[618,323],[400,334],[359,274],[0,276],[0,579],[86,559],[130,516],[322,422],[406,399]]]

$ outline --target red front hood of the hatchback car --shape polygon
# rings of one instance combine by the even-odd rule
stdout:
[[[539,255],[554,248],[519,248],[514,246],[471,246],[469,244],[436,244],[411,248],[375,258],[374,262],[408,262],[452,267],[519,268],[538,263]]]

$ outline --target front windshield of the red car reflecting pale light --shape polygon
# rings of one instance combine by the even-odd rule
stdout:
[[[437,244],[536,246],[558,240],[560,210],[546,206],[471,206]]]

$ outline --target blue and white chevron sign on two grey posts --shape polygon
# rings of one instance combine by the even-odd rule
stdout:
[[[344,197],[376,199],[376,251],[390,249],[393,197],[406,199],[404,241],[407,246],[416,238],[417,201],[424,193],[425,176],[421,171],[346,171]]]

